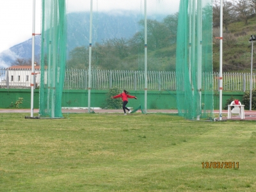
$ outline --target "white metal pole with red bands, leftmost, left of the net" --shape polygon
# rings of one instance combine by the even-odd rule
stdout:
[[[31,61],[31,113],[30,116],[33,117],[34,110],[34,84],[35,84],[35,10],[36,10],[36,2],[33,0],[33,25],[32,25],[32,61]]]

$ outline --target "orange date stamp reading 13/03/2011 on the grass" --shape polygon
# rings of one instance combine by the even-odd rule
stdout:
[[[232,169],[232,168],[239,168],[239,162],[202,162],[202,168],[205,169]]]

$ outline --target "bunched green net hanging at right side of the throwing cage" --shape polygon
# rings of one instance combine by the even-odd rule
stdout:
[[[179,115],[213,117],[211,0],[180,1],[176,50]]]

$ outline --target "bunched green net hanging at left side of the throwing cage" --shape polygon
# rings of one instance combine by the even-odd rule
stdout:
[[[63,0],[42,0],[39,114],[51,118],[62,117],[67,38],[65,7]]]

